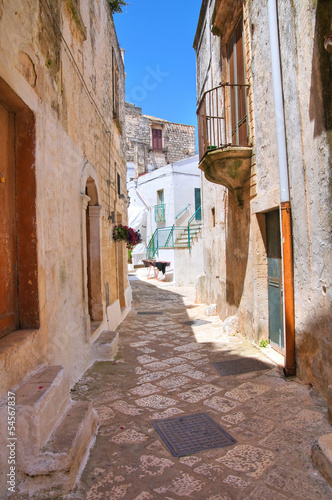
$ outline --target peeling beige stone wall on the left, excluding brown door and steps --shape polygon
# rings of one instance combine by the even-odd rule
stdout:
[[[0,339],[3,395],[41,364],[64,365],[73,383],[108,328],[106,306],[121,317],[117,304],[128,282],[125,252],[119,257],[110,236],[112,213],[127,220],[117,174],[127,191],[124,66],[108,5],[31,0],[0,7],[0,104],[30,110],[35,121],[36,192],[26,189],[24,202],[36,207],[40,320],[34,331]],[[25,262],[19,256],[18,264]]]

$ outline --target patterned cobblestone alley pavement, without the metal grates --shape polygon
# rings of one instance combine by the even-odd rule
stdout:
[[[96,363],[72,394],[93,402],[100,427],[66,498],[330,500],[332,488],[311,462],[313,441],[331,431],[326,401],[284,379],[263,349],[222,337],[193,289],[131,279],[116,360]],[[235,357],[271,368],[222,377],[210,364]],[[151,420],[202,412],[236,444],[174,457]]]

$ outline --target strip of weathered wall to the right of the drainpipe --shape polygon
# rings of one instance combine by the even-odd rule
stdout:
[[[325,394],[332,381],[332,54],[324,36],[331,27],[331,2],[298,0],[293,9],[280,2],[298,373]]]

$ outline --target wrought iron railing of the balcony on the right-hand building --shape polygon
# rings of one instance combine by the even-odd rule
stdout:
[[[224,83],[206,91],[198,105],[199,158],[227,146],[249,146],[249,85]]]

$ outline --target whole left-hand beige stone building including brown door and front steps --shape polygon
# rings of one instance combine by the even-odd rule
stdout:
[[[111,236],[127,221],[124,114],[108,2],[0,1],[0,436],[17,437],[13,469],[1,448],[1,497],[12,484],[61,495],[97,424],[69,389],[112,355],[107,332],[130,307]]]

